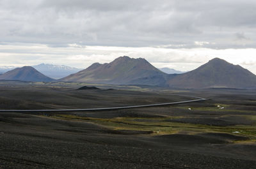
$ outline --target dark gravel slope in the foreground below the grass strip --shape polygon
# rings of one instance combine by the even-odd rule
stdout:
[[[255,145],[236,144],[234,152],[221,136],[212,142],[214,136],[109,134],[88,122],[6,113],[0,116],[0,168],[255,168]]]

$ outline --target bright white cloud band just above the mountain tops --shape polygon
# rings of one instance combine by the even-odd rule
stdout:
[[[233,64],[240,64],[256,74],[256,49],[209,48],[154,48],[154,47],[49,47],[47,45],[0,45],[1,65],[34,65],[42,62],[87,68],[93,62],[111,62],[116,57],[128,55],[143,57],[156,67],[189,71],[205,62],[220,57]]]

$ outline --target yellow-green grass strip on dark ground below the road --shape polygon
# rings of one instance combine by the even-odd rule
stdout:
[[[251,140],[256,139],[256,126],[236,125],[236,126],[210,126],[204,124],[190,124],[184,122],[166,122],[166,119],[173,117],[161,118],[133,118],[118,117],[113,119],[100,119],[92,117],[80,117],[77,115],[54,115],[53,118],[86,121],[100,124],[111,129],[134,130],[134,131],[154,131],[159,135],[179,133],[186,131],[189,133],[229,133],[232,135],[248,136]],[[143,120],[143,121],[140,121]]]

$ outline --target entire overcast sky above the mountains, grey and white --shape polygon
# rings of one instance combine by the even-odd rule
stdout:
[[[188,71],[214,57],[256,73],[255,0],[0,0],[0,66],[86,68],[129,55]]]

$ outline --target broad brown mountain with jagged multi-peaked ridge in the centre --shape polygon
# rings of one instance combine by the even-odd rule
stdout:
[[[123,56],[109,63],[93,63],[85,70],[60,80],[103,84],[163,85],[166,84],[168,77],[168,74],[158,70],[145,59]]]

